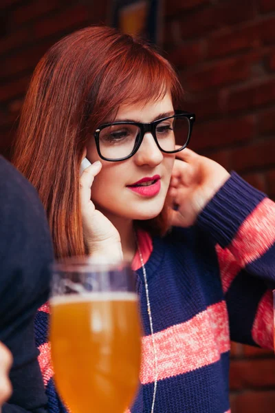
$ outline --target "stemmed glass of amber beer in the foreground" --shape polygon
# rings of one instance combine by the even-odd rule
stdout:
[[[139,384],[141,325],[129,264],[54,264],[54,380],[72,413],[124,413]]]

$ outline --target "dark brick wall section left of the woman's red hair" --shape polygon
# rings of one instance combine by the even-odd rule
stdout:
[[[109,0],[0,0],[0,153],[10,156],[36,63],[61,36],[106,22]]]

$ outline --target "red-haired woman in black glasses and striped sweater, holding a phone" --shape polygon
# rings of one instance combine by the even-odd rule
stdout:
[[[229,412],[230,338],[273,346],[274,203],[184,149],[195,115],[176,111],[182,94],[148,45],[80,30],[36,67],[14,155],[45,205],[57,257],[133,260],[144,337],[132,413]],[[92,165],[79,178],[84,156]],[[36,321],[45,350],[45,313]]]

